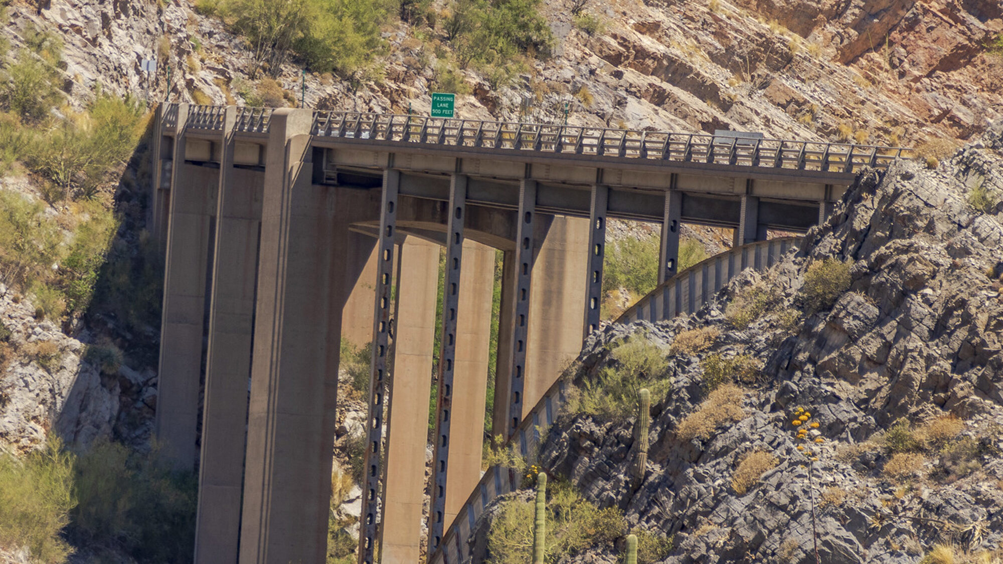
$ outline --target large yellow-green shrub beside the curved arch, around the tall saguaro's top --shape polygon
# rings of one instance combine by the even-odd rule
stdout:
[[[672,387],[665,374],[668,363],[664,351],[643,336],[617,342],[610,356],[615,365],[602,368],[595,379],[570,394],[569,412],[622,421],[636,412],[639,389],[647,387],[659,401]]]

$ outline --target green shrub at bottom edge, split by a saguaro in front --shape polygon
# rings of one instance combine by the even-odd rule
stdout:
[[[566,482],[548,484],[547,495],[545,550],[549,555],[574,557],[587,548],[612,544],[626,530],[619,510],[597,508]],[[514,499],[505,503],[487,533],[488,563],[531,561],[534,515],[532,501]]]

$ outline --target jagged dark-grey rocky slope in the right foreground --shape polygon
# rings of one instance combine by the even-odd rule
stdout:
[[[829,220],[769,272],[739,276],[688,318],[597,336],[580,357],[579,385],[616,367],[609,349],[617,339],[646,339],[668,358],[672,390],[652,398],[639,488],[631,485],[632,422],[565,412],[539,463],[598,506],[619,507],[630,527],[674,535],[663,563],[807,564],[813,529],[826,563],[918,562],[935,543],[954,544],[959,558],[998,550],[1003,204],[983,214],[967,198],[975,183],[1003,188],[1001,144],[1003,128],[937,171],[899,163],[863,174]],[[824,259],[850,262],[849,291],[807,313],[805,274]],[[769,292],[770,307],[739,329],[725,307],[752,289]],[[680,332],[708,326],[720,331],[710,348],[669,352]],[[748,355],[761,368],[740,382],[737,420],[712,426],[707,439],[684,438],[680,424],[706,397],[711,354]],[[808,445],[817,462],[797,450],[796,406],[818,424],[808,435],[822,440]],[[756,451],[777,464],[739,493],[736,469]],[[904,461],[912,464],[903,469]],[[480,520],[481,533],[489,521]],[[617,547],[595,547],[574,561],[619,558]]]

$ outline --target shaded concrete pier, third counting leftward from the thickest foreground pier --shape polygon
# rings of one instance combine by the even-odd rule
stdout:
[[[176,468],[196,460],[202,374],[206,270],[213,238],[219,171],[185,164],[188,106],[179,108],[172,173],[171,216],[163,275],[163,312],[154,434]]]

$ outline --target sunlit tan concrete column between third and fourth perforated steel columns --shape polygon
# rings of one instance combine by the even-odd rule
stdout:
[[[530,295],[525,417],[582,350],[586,295],[582,272],[589,264],[589,220],[557,216],[540,246]]]

